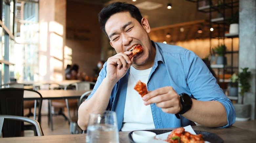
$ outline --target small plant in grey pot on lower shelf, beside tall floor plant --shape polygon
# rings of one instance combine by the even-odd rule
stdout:
[[[237,96],[237,87],[238,87],[238,75],[233,73],[230,78],[231,83],[228,86],[228,95],[229,96]]]

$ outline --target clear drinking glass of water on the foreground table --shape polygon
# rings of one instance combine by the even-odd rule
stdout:
[[[119,143],[116,112],[91,113],[86,133],[87,143]]]

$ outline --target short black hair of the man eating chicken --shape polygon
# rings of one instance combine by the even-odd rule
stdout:
[[[142,16],[140,14],[139,8],[126,2],[112,3],[109,6],[104,7],[98,14],[99,24],[101,26],[102,31],[106,34],[107,37],[108,35],[105,29],[105,24],[112,15],[119,12],[129,12],[130,15],[141,24]]]

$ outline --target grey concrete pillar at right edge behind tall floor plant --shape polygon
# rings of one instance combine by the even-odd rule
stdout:
[[[250,92],[244,103],[251,104],[251,119],[255,120],[255,69],[256,69],[256,3],[255,0],[239,0],[239,71],[249,67]],[[241,97],[239,97],[239,100]],[[241,101],[241,100],[240,100]]]

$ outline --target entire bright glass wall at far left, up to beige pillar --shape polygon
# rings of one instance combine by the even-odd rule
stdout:
[[[38,75],[38,0],[0,0],[0,81]]]

